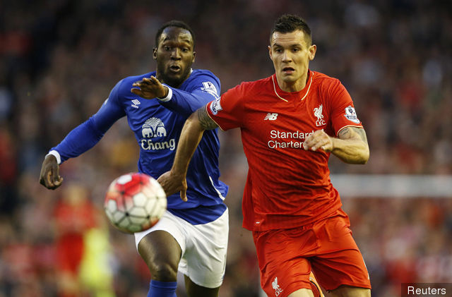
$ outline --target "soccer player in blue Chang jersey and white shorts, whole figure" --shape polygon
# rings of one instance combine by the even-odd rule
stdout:
[[[89,150],[123,116],[140,146],[138,171],[158,178],[172,166],[185,120],[220,96],[220,80],[210,71],[193,70],[194,33],[172,20],[155,36],[157,71],[120,80],[102,107],[52,147],[42,163],[40,183],[61,186],[59,164]],[[148,297],[174,297],[177,271],[189,296],[218,296],[225,274],[228,187],[218,180],[217,131],[206,131],[189,167],[186,201],[170,195],[167,212],[151,229],[135,234],[138,253],[152,275]]]

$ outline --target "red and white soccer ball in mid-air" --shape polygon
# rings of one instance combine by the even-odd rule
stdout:
[[[167,208],[165,191],[154,178],[140,173],[119,176],[105,195],[109,221],[120,231],[135,233],[154,226]]]

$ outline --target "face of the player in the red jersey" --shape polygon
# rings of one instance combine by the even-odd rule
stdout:
[[[316,45],[302,30],[274,32],[268,47],[281,90],[297,92],[306,85],[309,61],[314,59]]]

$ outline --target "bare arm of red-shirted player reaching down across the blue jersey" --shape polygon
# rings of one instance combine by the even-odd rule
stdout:
[[[186,120],[177,144],[172,169],[157,179],[167,196],[180,191],[182,200],[187,200],[186,171],[189,169],[191,157],[193,157],[204,131],[217,127],[218,125],[208,116],[206,107],[201,107]]]

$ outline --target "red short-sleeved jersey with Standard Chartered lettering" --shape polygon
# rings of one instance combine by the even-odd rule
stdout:
[[[303,149],[314,131],[333,136],[347,126],[362,127],[339,80],[309,71],[303,90],[284,92],[272,75],[237,85],[207,111],[222,130],[242,131],[249,164],[244,228],[289,229],[343,213],[330,181],[330,153]]]

